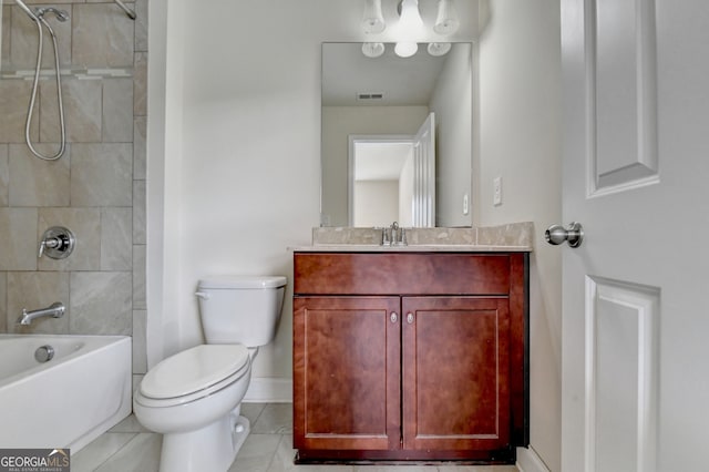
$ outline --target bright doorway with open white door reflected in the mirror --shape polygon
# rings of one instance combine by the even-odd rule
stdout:
[[[415,135],[349,136],[349,225],[435,224],[435,120]]]

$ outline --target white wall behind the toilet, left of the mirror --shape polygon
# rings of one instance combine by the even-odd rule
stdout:
[[[395,1],[386,0],[391,21]],[[470,41],[474,2],[458,3]],[[320,43],[361,41],[352,0],[151,1],[151,363],[202,341],[199,277],[291,277],[286,248],[319,224]],[[427,22],[435,3],[422,2]],[[391,29],[377,40],[390,40]],[[433,33],[421,40],[440,40]],[[291,377],[291,304],[254,377]],[[290,392],[284,392],[289,397]]]

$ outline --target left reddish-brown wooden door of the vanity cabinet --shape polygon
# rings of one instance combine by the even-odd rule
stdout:
[[[400,449],[399,311],[399,297],[294,298],[296,449]]]

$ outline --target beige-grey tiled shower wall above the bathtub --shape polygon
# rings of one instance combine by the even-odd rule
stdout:
[[[130,335],[133,371],[144,373],[147,0],[126,2],[136,21],[107,0],[25,2],[70,16],[63,23],[45,16],[59,42],[68,147],[60,160],[43,162],[24,144],[37,27],[4,0],[0,332]],[[60,134],[48,38],[31,136],[53,154]],[[40,237],[51,226],[65,226],[76,237],[66,259],[38,258]],[[54,301],[66,306],[63,318],[17,325],[22,308]]]

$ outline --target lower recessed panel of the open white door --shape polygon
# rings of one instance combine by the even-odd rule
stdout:
[[[588,277],[586,300],[586,470],[653,470],[659,290]]]

